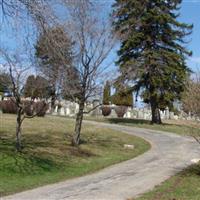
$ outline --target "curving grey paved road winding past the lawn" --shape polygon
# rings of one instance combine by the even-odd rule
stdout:
[[[3,199],[14,200],[125,200],[144,193],[191,164],[200,156],[200,145],[193,138],[172,133],[114,124],[85,121],[136,135],[149,141],[152,148],[137,158],[97,173],[43,186]]]

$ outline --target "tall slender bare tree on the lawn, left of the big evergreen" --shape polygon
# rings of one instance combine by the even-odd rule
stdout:
[[[79,145],[85,102],[99,92],[103,72],[108,69],[106,59],[115,44],[110,22],[99,14],[96,1],[63,0],[68,9],[66,28],[75,41],[74,72],[78,76],[76,84],[68,72],[65,93],[79,104],[76,115],[73,145]],[[99,10],[98,10],[99,9]]]

